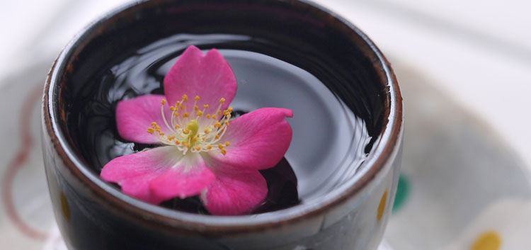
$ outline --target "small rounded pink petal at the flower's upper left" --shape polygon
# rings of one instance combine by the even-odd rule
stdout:
[[[169,128],[162,120],[161,95],[145,95],[120,101],[116,107],[116,125],[122,138],[132,142],[156,144],[159,140],[155,135],[149,134],[147,128],[155,122],[161,127],[161,131],[169,134]],[[169,105],[164,106],[166,118],[171,118]],[[171,125],[171,124],[170,124]]]

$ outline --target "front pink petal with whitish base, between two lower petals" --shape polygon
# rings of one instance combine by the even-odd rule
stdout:
[[[186,198],[200,194],[214,179],[200,154],[186,154],[169,171],[154,178],[150,188],[163,200]]]

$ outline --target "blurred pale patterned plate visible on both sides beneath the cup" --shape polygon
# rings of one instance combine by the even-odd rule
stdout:
[[[35,64],[0,83],[2,249],[66,249],[40,152],[40,98],[50,66]],[[380,250],[531,249],[529,170],[429,81],[394,68],[405,100],[403,174]]]

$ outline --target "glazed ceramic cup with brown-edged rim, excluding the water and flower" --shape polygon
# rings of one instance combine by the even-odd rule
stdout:
[[[319,199],[236,217],[149,205],[102,181],[69,133],[68,116],[75,114],[67,110],[79,101],[69,95],[113,55],[178,33],[252,35],[346,69],[366,91],[347,97],[359,98],[363,105],[356,111],[373,121],[367,123],[373,145],[365,163]],[[246,41],[236,47],[245,50]],[[282,53],[270,56],[290,62]],[[389,63],[358,28],[331,11],[295,0],[144,1],[103,16],[59,55],[45,86],[42,144],[55,218],[69,249],[373,250],[392,210],[402,124],[402,99]]]

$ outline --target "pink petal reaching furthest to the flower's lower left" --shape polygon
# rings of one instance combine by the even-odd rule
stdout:
[[[154,195],[149,183],[169,171],[181,158],[183,154],[176,147],[156,147],[109,161],[103,166],[100,176],[104,181],[118,183],[127,195],[159,204],[164,197]]]

